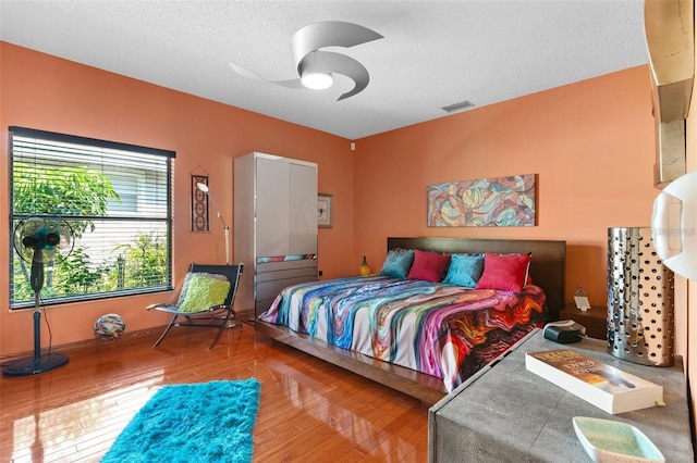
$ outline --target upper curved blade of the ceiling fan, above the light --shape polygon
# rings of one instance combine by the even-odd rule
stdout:
[[[323,21],[307,25],[291,39],[293,59],[299,62],[315,50],[325,47],[354,47],[383,38],[372,29],[342,21]],[[299,71],[299,70],[298,70]]]

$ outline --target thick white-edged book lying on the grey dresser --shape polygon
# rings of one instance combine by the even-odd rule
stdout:
[[[529,352],[525,367],[611,414],[663,402],[663,387],[567,349]]]

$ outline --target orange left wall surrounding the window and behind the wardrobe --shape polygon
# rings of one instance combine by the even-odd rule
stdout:
[[[233,158],[261,151],[319,164],[319,190],[333,193],[338,212],[333,228],[319,230],[319,267],[326,277],[354,270],[348,140],[7,42],[0,42],[0,216],[9,213],[4,192],[10,125],[174,150],[173,249],[179,287],[192,261],[224,262],[222,225],[215,215],[210,234],[189,233],[189,173],[208,173],[211,195],[232,224]],[[8,226],[2,226],[0,242],[8,240]],[[0,358],[33,349],[32,312],[9,312],[8,262],[8,246],[0,246]],[[53,345],[93,339],[95,320],[110,312],[121,314],[129,330],[162,325],[162,314],[144,308],[173,298],[160,293],[51,306],[47,312]],[[46,346],[47,331],[41,336]]]

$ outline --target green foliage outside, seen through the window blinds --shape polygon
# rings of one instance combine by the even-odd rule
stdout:
[[[83,241],[88,241],[96,225],[94,218],[85,217],[105,216],[110,200],[120,202],[107,175],[82,166],[37,170],[41,167],[15,163],[14,214],[61,216],[70,224],[75,237],[72,252],[68,256],[57,255],[53,266],[45,268],[42,297],[109,293],[151,287],[154,281],[167,283],[169,253],[164,236],[138,233],[130,242],[114,246],[113,254],[102,262],[90,259]],[[34,299],[28,283],[29,267],[30,263],[14,254],[14,302]]]

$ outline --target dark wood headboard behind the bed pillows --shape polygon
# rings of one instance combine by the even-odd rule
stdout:
[[[533,253],[530,277],[545,290],[552,320],[559,320],[564,308],[564,268],[566,241],[523,239],[467,239],[467,238],[393,238],[388,237],[388,250],[394,248],[420,249],[436,252],[497,252]]]

